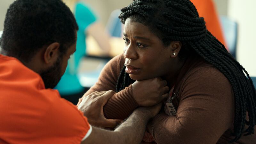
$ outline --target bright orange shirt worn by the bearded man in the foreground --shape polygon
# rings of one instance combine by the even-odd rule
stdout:
[[[90,128],[76,106],[45,89],[40,75],[0,54],[1,144],[80,144]]]

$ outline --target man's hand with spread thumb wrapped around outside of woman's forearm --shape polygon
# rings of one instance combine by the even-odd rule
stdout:
[[[98,127],[116,127],[122,120],[119,119],[106,119],[103,114],[103,106],[107,103],[108,99],[114,95],[112,90],[103,92],[92,92],[88,96],[83,96],[83,100],[77,106],[79,110],[84,112],[84,116],[88,118],[91,125]]]

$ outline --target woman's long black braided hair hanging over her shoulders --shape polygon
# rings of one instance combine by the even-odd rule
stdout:
[[[171,41],[181,41],[179,57],[186,58],[193,52],[219,69],[230,82],[235,96],[235,138],[254,133],[256,124],[256,91],[252,79],[243,66],[228,53],[206,29],[204,18],[199,17],[196,7],[189,0],[133,0],[121,9],[119,18],[124,23],[127,18],[142,23],[158,36],[165,46]],[[244,73],[246,75],[244,75]],[[134,81],[122,68],[116,84],[116,92],[123,90]],[[249,121],[246,120],[246,112]],[[248,128],[243,131],[244,126]]]

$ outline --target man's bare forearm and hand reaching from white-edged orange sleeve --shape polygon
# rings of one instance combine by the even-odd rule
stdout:
[[[121,124],[115,131],[108,131],[97,127],[92,127],[92,133],[82,141],[82,144],[127,144],[140,143],[144,134],[148,120],[156,115],[161,108],[161,104],[152,108],[138,108],[132,115]]]

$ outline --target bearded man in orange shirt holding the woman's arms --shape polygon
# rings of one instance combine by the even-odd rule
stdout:
[[[115,131],[102,107],[113,91],[76,106],[52,88],[76,51],[78,26],[61,0],[17,0],[7,10],[0,51],[0,143],[139,143],[161,104],[138,108]],[[85,116],[90,116],[86,118]],[[90,122],[90,124],[88,123]]]

